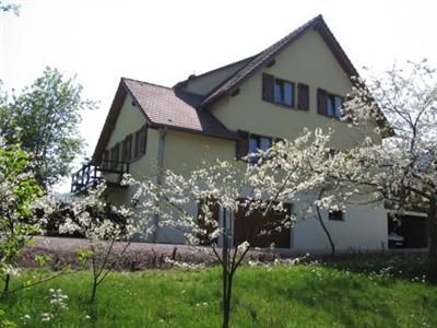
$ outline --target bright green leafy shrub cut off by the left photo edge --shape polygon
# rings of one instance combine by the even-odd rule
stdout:
[[[42,189],[32,174],[27,154],[17,144],[8,145],[0,137],[0,272],[4,292],[20,273],[20,250],[40,232],[33,207]]]

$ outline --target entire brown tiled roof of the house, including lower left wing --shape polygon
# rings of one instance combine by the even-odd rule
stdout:
[[[217,101],[222,96],[232,94],[253,73],[273,61],[275,56],[310,30],[317,30],[319,32],[320,36],[349,77],[358,75],[351,60],[347,58],[346,54],[327,26],[323,17],[318,15],[258,55],[205,72],[198,77],[191,77],[186,81],[177,83],[173,89],[122,78],[98,139],[93,155],[94,161],[99,162],[102,157],[127,93],[132,95],[151,127],[168,127],[176,130],[201,133],[216,138],[231,140],[237,139],[235,132],[227,130],[226,127],[223,126],[223,124],[209,110],[202,110],[202,108]],[[208,74],[233,66],[237,67],[238,65],[243,65],[241,68],[237,69],[235,73],[231,74],[229,78],[218,84],[205,96],[184,91],[185,84],[189,83],[191,79],[201,79]]]

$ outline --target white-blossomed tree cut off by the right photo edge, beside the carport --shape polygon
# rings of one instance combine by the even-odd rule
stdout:
[[[392,209],[420,209],[428,216],[428,278],[437,281],[437,72],[421,62],[393,66],[380,78],[356,79],[345,119],[362,130],[369,121],[385,138],[350,151],[342,178],[367,186]],[[387,124],[388,122],[388,124]]]

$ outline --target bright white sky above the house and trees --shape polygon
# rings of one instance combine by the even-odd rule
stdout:
[[[120,77],[172,86],[255,55],[318,14],[361,72],[424,57],[437,66],[436,0],[12,2],[21,13],[0,15],[0,79],[20,90],[46,66],[78,74],[86,96],[101,102],[83,115],[87,155]]]

